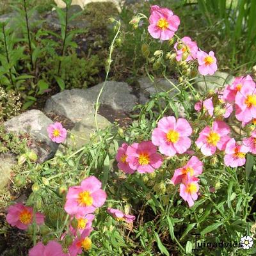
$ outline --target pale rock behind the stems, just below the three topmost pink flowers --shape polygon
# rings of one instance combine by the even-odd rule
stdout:
[[[216,88],[221,88],[225,84],[230,84],[234,81],[235,77],[226,73],[216,71],[213,76],[205,76],[205,81],[207,83],[208,90],[215,90]],[[206,91],[204,77],[200,76],[195,80],[195,88],[198,88],[200,92]]]

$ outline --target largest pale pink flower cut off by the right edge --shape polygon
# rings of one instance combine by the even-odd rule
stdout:
[[[244,81],[244,85],[236,94],[236,118],[241,122],[250,122],[256,118],[256,92],[253,81]]]

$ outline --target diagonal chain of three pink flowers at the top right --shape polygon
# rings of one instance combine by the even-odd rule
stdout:
[[[175,35],[179,25],[180,19],[173,15],[172,10],[157,5],[151,6],[148,26],[150,35],[160,40],[171,40],[173,36],[176,36],[178,38],[178,42],[174,45],[176,60],[186,62],[197,60],[200,74],[213,75],[217,70],[214,52],[207,53],[198,49],[196,42],[192,41],[189,36],[180,39],[179,36]]]

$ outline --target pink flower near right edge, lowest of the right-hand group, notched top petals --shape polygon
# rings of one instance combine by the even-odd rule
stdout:
[[[228,141],[225,149],[224,163],[232,168],[242,166],[245,164],[245,154],[248,151],[248,147],[237,145],[235,139],[232,138]]]

